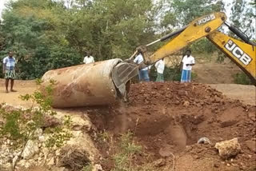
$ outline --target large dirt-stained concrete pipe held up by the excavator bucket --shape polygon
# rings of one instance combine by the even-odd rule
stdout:
[[[42,87],[54,80],[53,107],[110,105],[118,98],[112,70],[121,59],[50,70],[42,77]]]

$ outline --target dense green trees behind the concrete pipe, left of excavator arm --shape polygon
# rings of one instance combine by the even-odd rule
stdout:
[[[18,0],[3,14],[6,48],[18,59],[18,77],[33,79],[47,70],[82,62],[90,50],[96,61],[127,58],[154,40],[153,0]]]

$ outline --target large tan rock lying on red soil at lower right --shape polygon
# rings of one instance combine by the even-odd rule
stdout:
[[[238,143],[238,138],[229,141],[221,141],[216,143],[215,148],[218,149],[219,156],[222,159],[235,157],[241,151],[241,146]]]

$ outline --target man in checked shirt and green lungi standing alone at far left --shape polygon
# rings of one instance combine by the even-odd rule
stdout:
[[[3,59],[2,72],[3,74],[5,74],[5,78],[6,78],[6,93],[9,93],[9,90],[8,90],[9,80],[10,80],[10,91],[16,92],[16,90],[14,90],[16,60],[13,57],[13,55],[14,55],[13,52],[10,51],[8,57]]]

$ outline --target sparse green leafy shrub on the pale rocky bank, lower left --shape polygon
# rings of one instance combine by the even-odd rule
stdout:
[[[38,84],[40,82],[38,81]],[[53,84],[53,82],[51,83]],[[12,163],[13,170],[28,141],[38,140],[38,130],[46,125],[46,117],[56,114],[50,106],[52,103],[52,86],[46,87],[46,94],[37,90],[32,94],[21,96],[23,101],[31,101],[32,105],[28,109],[8,109],[5,105],[0,105],[0,120],[2,121],[0,125],[0,140],[8,139],[11,141],[13,144],[10,146],[11,153],[16,149],[21,152],[18,155],[18,159]],[[34,106],[35,104],[38,106]],[[72,136],[69,131],[70,125],[70,117],[65,117],[59,125],[53,128],[46,128],[45,132],[48,132],[49,135],[45,142],[46,148],[52,151],[54,147],[58,148],[64,145],[64,142]],[[46,158],[49,159],[49,157]],[[14,159],[10,161],[13,162]]]

